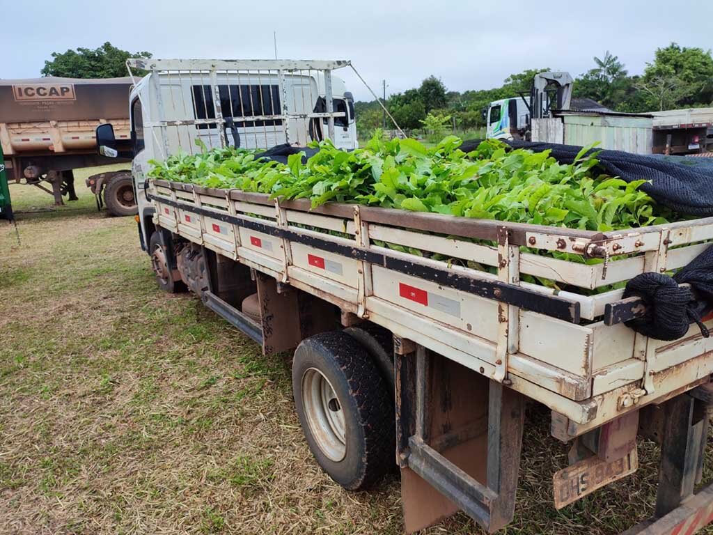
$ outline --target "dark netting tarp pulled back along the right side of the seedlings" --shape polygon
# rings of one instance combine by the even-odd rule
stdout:
[[[474,150],[480,141],[466,141],[463,151]],[[530,151],[550,150],[561,163],[572,163],[582,149],[571,145],[554,143],[530,143],[508,141],[513,148],[528,148]],[[597,159],[610,175],[627,182],[650,180],[641,189],[657,203],[686,215],[707,217],[713,215],[713,161],[711,158],[685,158],[625,153],[623,151],[599,151]]]

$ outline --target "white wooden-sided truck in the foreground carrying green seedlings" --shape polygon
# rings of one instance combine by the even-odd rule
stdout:
[[[334,102],[345,94],[336,73],[350,63],[129,64],[149,71],[130,96],[131,156],[158,286],[188,288],[265,354],[294,350],[299,422],[334,481],[363,489],[397,466],[406,531],[458,510],[497,531],[513,519],[530,400],[550,409],[553,440],[572,445],[570,466],[542,483],[553,485],[555,507],[635,472],[637,442],[647,437],[662,452],[656,517],[628,533],[690,534],[711,521],[713,486],[697,494],[694,486],[713,402],[713,339],[697,325],[667,342],[635,332],[625,322],[648,305],[602,287],[687,265],[713,240],[713,218],[598,233],[312,208],[307,199],[149,178],[150,159],[200,151],[197,140],[229,144],[227,124],[252,146],[289,147],[313,138],[316,121],[347,145],[337,125],[348,130],[353,117]],[[251,94],[257,103],[240,106]],[[197,101],[210,108],[198,113]],[[97,138],[103,153],[120,153],[111,125]],[[713,327],[713,315],[702,322]]]

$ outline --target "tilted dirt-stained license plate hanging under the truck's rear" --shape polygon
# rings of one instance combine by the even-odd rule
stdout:
[[[594,456],[562,469],[552,478],[555,508],[562,509],[612,481],[633,474],[638,467],[639,457],[634,448],[616,461],[606,462]]]

